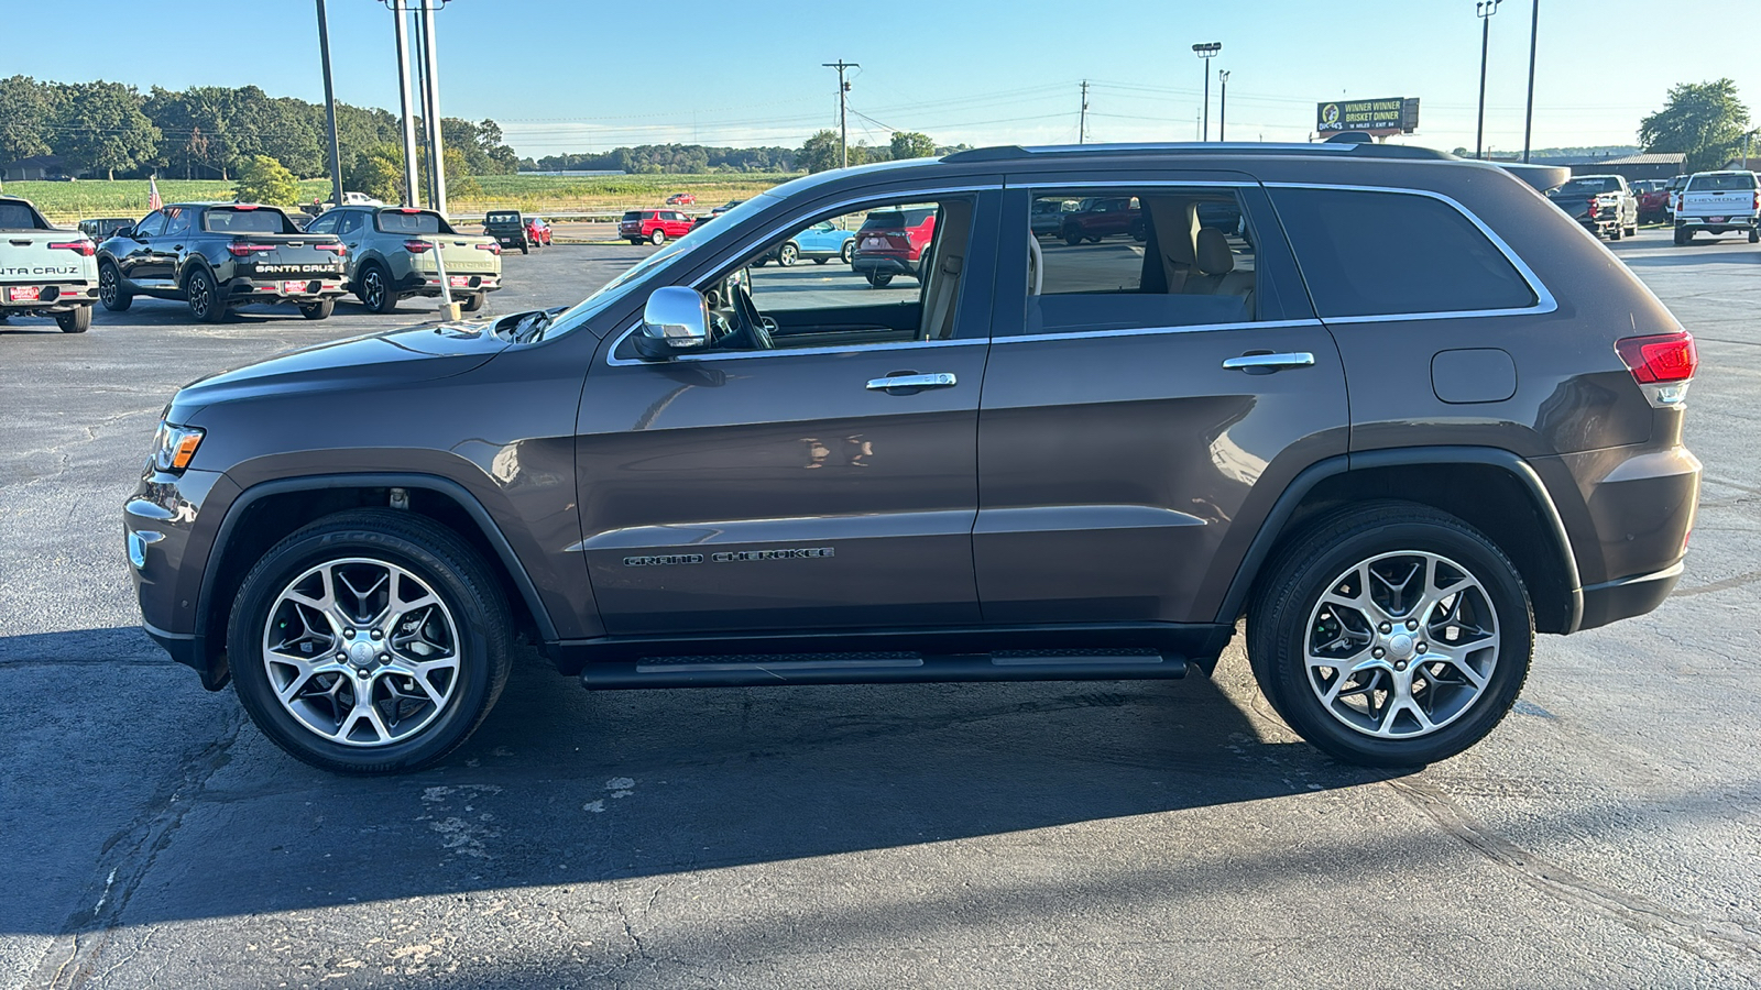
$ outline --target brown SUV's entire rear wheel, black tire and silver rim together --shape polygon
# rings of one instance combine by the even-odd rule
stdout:
[[[1534,613],[1509,557],[1409,502],[1323,516],[1268,564],[1247,652],[1271,706],[1317,749],[1421,766],[1479,742],[1529,676]]]

